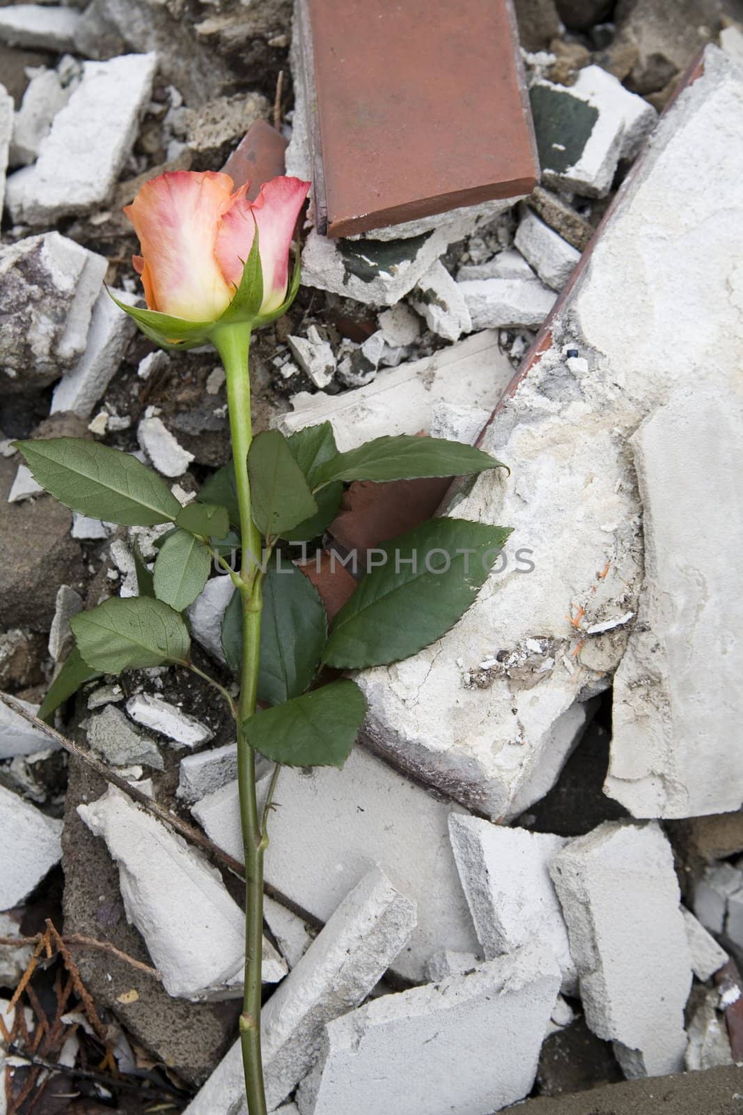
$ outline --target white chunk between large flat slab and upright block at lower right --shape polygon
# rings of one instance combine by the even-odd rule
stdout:
[[[456,814],[449,834],[486,959],[544,941],[559,964],[563,991],[575,995],[578,972],[549,878],[549,864],[567,838]]]

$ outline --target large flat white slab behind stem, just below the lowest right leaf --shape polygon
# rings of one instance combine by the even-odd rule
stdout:
[[[265,792],[267,778],[261,788]],[[281,808],[271,816],[265,878],[289,900],[322,921],[378,863],[418,903],[418,925],[395,971],[423,978],[438,949],[479,952],[449,844],[448,820],[457,806],[437,801],[380,759],[356,747],[342,772],[315,767],[311,774],[283,769],[275,793]],[[207,835],[239,855],[236,783],[199,802],[193,814]],[[332,816],[342,838],[321,838]],[[305,851],[313,847],[307,860]]]

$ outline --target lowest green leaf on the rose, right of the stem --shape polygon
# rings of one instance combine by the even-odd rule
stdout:
[[[359,686],[332,681],[285,705],[256,712],[243,725],[256,752],[287,766],[342,767],[366,715]]]

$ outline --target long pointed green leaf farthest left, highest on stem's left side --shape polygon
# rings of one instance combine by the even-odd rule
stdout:
[[[180,504],[136,457],[81,437],[14,442],[35,479],[72,511],[124,526],[172,522]]]

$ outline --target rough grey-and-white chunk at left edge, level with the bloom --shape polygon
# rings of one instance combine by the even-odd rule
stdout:
[[[0,250],[6,389],[47,387],[82,356],[107,266],[102,255],[58,232]]]

